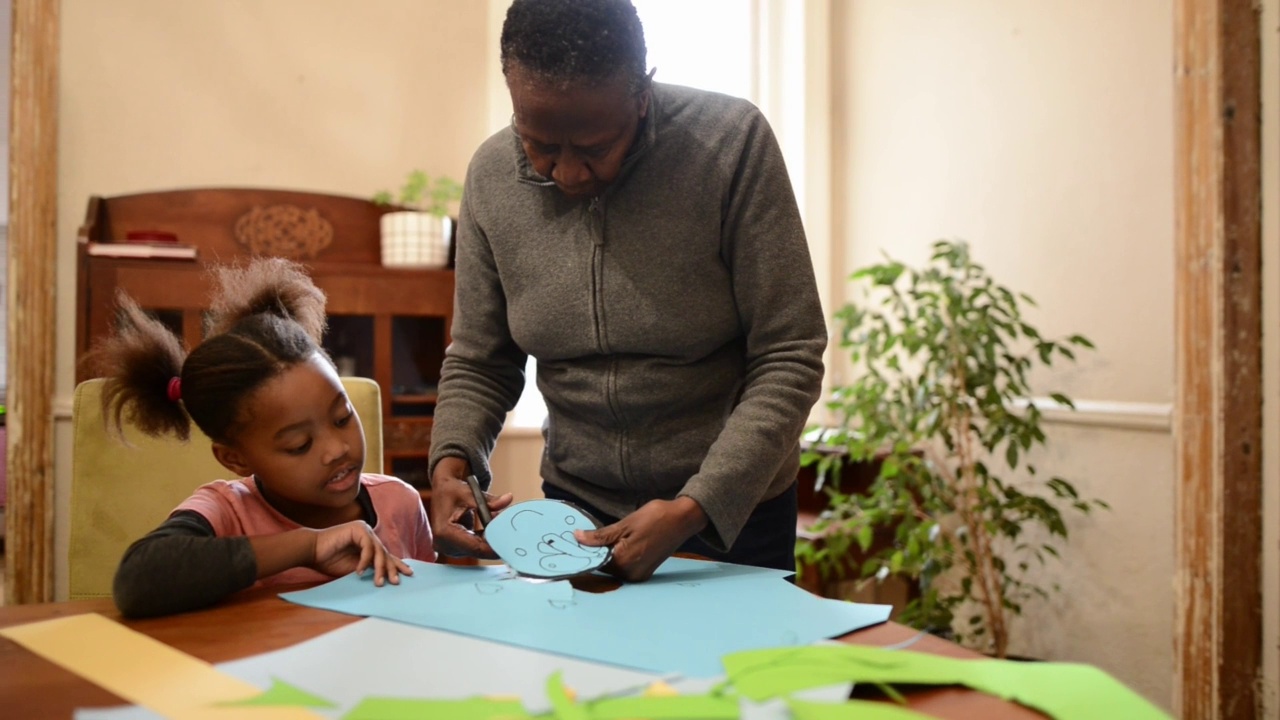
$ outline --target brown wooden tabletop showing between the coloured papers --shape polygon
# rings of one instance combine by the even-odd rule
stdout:
[[[225,662],[289,647],[355,623],[358,618],[285,602],[273,592],[250,591],[212,610],[154,620],[124,620],[110,600],[0,607],[0,628],[82,612],[99,612],[209,662]],[[888,646],[915,630],[886,623],[846,635],[847,642]],[[911,644],[919,652],[979,657],[936,637]],[[937,717],[1043,720],[1038,712],[963,688],[934,688],[908,696],[911,708]],[[77,707],[122,705],[116,696],[0,638],[0,716],[5,720],[70,717]]]

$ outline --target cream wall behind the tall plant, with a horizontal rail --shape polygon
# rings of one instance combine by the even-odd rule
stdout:
[[[833,228],[844,270],[970,241],[1098,351],[1037,378],[1089,405],[1042,473],[1112,511],[1073,521],[1064,592],[1015,653],[1172,700],[1172,13],[1167,0],[833,4]]]

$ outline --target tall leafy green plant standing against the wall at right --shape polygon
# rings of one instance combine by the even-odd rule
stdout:
[[[992,281],[964,242],[934,243],[923,269],[886,259],[850,279],[865,293],[835,319],[854,379],[827,402],[835,425],[810,428],[801,462],[828,503],[797,560],[838,574],[856,550],[861,582],[915,584],[901,621],[1004,657],[1009,618],[1057,589],[1028,570],[1057,557],[1064,514],[1106,507],[1029,462],[1046,443],[1030,372],[1093,345],[1041,334],[1023,315],[1034,301]],[[841,492],[847,462],[878,468],[863,492]]]

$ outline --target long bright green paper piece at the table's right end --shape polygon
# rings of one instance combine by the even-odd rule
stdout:
[[[1056,720],[1169,717],[1102,670],[1071,662],[959,660],[923,652],[824,644],[739,652],[724,657],[724,669],[737,692],[751,700],[851,680],[890,685],[966,685]]]

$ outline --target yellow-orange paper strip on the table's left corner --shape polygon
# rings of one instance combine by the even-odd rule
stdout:
[[[0,629],[0,635],[172,720],[317,717],[301,707],[218,707],[262,689],[101,615],[15,625]]]

